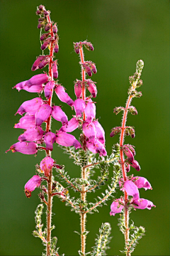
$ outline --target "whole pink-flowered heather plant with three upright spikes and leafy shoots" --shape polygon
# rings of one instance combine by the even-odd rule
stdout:
[[[143,61],[139,60],[136,65],[136,72],[130,77],[130,88],[128,90],[128,101],[125,107],[115,107],[113,112],[118,114],[123,112],[123,122],[121,127],[114,127],[111,137],[120,134],[120,143],[113,145],[112,153],[108,156],[105,145],[105,132],[101,124],[96,119],[97,95],[96,82],[91,80],[91,76],[96,74],[96,65],[92,61],[84,60],[84,48],[94,50],[94,46],[89,41],[74,43],[74,50],[80,58],[81,80],[74,82],[74,92],[77,97],[72,100],[66,89],[58,80],[58,62],[55,60],[55,53],[59,50],[59,36],[57,34],[57,23],[50,19],[50,11],[45,6],[38,6],[36,14],[38,28],[40,29],[40,42],[42,55],[36,58],[32,71],[45,68],[47,71],[32,78],[19,82],[15,87],[18,91],[38,92],[38,97],[33,100],[23,102],[16,114],[21,114],[15,128],[24,129],[23,134],[18,137],[18,142],[10,149],[12,152],[22,154],[38,154],[38,151],[45,152],[45,158],[36,166],[35,175],[25,185],[26,197],[30,198],[35,188],[40,188],[39,198],[41,203],[35,210],[36,227],[33,235],[42,240],[45,246],[45,253],[42,255],[59,255],[57,248],[57,237],[52,237],[52,198],[57,196],[64,201],[66,206],[80,215],[80,231],[77,232],[81,238],[79,255],[106,255],[108,242],[111,240],[111,224],[103,223],[99,229],[96,242],[91,252],[86,252],[86,221],[88,214],[98,212],[98,207],[106,204],[106,201],[113,198],[110,215],[120,213],[119,227],[125,236],[125,255],[131,255],[135,249],[137,241],[145,234],[145,228],[135,227],[134,223],[129,223],[130,211],[138,209],[151,209],[154,204],[144,198],[140,198],[138,188],[152,189],[149,181],[140,176],[128,176],[130,166],[136,171],[140,171],[140,165],[134,159],[135,149],[130,144],[124,144],[125,136],[135,137],[134,127],[126,126],[128,112],[137,114],[135,107],[131,105],[133,97],[141,97],[142,93],[136,89],[142,85],[140,75],[142,73]],[[44,32],[42,32],[44,30]],[[44,50],[49,50],[45,55]],[[88,75],[90,78],[86,78]],[[52,103],[53,93],[57,95],[61,102],[69,105],[74,111],[72,119],[68,120],[67,114],[62,110],[62,106]],[[52,118],[61,123],[59,130],[52,129]],[[76,139],[71,132],[79,129],[79,139]],[[81,169],[81,176],[70,177],[72,173],[67,172],[60,163],[57,156],[52,156],[53,146],[57,144],[62,147],[64,153],[74,160],[74,164]],[[111,166],[112,178],[109,181],[109,166]],[[100,176],[94,179],[94,173],[98,169]],[[61,181],[60,181],[61,180]],[[108,188],[101,197],[98,196],[96,202],[88,201],[88,194],[96,192],[106,183]],[[69,195],[69,189],[77,192],[75,197]],[[123,191],[124,196],[115,198],[113,194],[116,189]],[[46,208],[46,227],[43,228],[41,215],[43,208]],[[109,209],[108,209],[109,214]],[[61,248],[62,250],[62,248]],[[114,252],[113,252],[114,253]],[[72,255],[72,252],[70,252]]]

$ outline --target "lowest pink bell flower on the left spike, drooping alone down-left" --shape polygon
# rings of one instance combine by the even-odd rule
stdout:
[[[41,177],[38,175],[34,175],[25,185],[25,193],[26,197],[30,198],[31,192],[35,190],[41,184]]]

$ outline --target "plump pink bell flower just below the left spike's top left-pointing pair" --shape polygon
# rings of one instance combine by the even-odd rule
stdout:
[[[33,100],[27,100],[18,108],[16,114],[18,113],[22,115],[26,112],[28,112],[28,114],[35,114],[42,104],[43,100],[40,97],[36,97]]]

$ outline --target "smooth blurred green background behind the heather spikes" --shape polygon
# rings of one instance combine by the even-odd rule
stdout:
[[[131,168],[130,174],[145,176],[153,190],[140,189],[140,197],[153,201],[157,208],[136,210],[131,214],[135,225],[146,227],[134,255],[169,255],[169,1],[167,0],[1,0],[1,251],[0,255],[41,255],[39,239],[31,235],[35,229],[34,211],[39,203],[38,189],[26,198],[23,188],[35,174],[35,164],[44,157],[41,151],[33,155],[12,154],[4,151],[17,142],[22,129],[13,129],[20,119],[14,116],[23,101],[37,97],[30,92],[12,90],[16,83],[40,73],[31,72],[35,56],[41,54],[36,6],[44,4],[57,21],[60,50],[57,53],[59,79],[75,99],[73,81],[80,79],[79,56],[74,53],[73,42],[89,40],[94,52],[84,50],[85,59],[96,63],[98,73],[96,117],[106,131],[106,149],[118,142],[110,138],[111,128],[120,125],[121,114],[115,116],[115,106],[125,106],[128,77],[135,73],[137,60],[144,60],[142,98],[135,99],[137,116],[129,115],[128,124],[135,126],[136,137],[127,137],[126,143],[135,145],[135,159],[141,166],[140,174]],[[54,96],[55,104],[61,102]],[[63,105],[69,119],[73,112]],[[60,124],[54,121],[52,130]],[[79,132],[74,132],[78,137]],[[80,175],[68,155],[55,146],[52,153],[58,164],[65,164],[70,176]],[[112,171],[111,171],[112,172]],[[98,174],[98,170],[96,170]],[[105,186],[106,188],[106,186]],[[103,188],[104,189],[104,188]],[[99,191],[100,194],[102,191]],[[74,196],[74,192],[72,192]],[[89,201],[94,201],[94,193]],[[120,196],[118,192],[116,196]],[[86,252],[94,246],[94,238],[101,223],[110,222],[112,240],[108,255],[121,255],[123,234],[118,229],[118,215],[109,215],[108,206],[99,213],[88,215]],[[52,235],[58,238],[60,254],[77,255],[80,248],[79,215],[70,212],[58,198],[54,199]],[[43,217],[45,222],[45,217]]]

